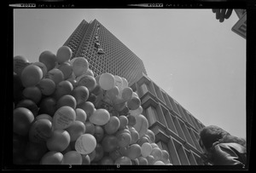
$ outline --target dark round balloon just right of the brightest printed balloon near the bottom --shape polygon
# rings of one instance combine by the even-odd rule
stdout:
[[[118,139],[116,136],[104,136],[102,139],[102,147],[104,152],[113,152],[118,147]]]

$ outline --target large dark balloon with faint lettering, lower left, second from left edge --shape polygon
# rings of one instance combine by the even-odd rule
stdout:
[[[43,143],[53,133],[52,123],[49,119],[36,120],[29,130],[29,140],[35,143]]]

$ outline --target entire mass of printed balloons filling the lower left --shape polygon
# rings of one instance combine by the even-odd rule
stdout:
[[[62,46],[14,58],[14,164],[170,164],[125,78]]]

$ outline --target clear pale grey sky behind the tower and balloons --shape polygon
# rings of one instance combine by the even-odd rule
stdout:
[[[202,124],[246,138],[246,40],[212,9],[15,9],[14,55],[56,53],[82,20],[98,20],[143,60],[155,84]]]

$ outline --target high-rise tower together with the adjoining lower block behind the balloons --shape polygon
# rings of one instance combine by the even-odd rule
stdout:
[[[128,80],[141,99],[155,143],[169,153],[171,164],[203,164],[198,140],[204,124],[148,78],[143,61],[124,43],[97,20],[83,20],[64,45],[73,57],[85,57],[96,75],[110,72]]]

